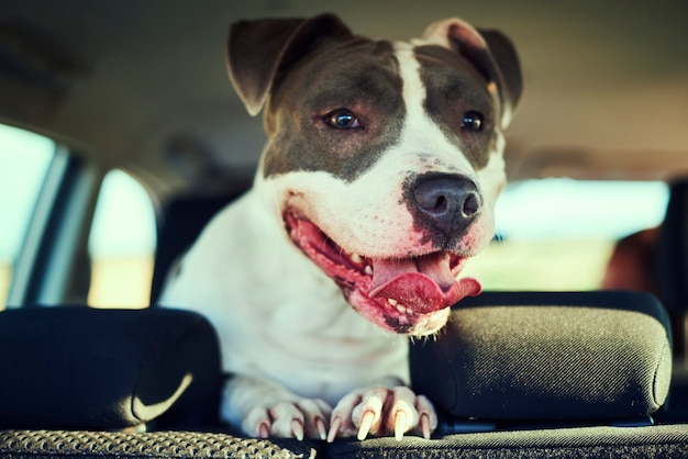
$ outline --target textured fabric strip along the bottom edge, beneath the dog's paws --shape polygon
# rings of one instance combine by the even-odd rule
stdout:
[[[247,439],[225,434],[0,432],[0,456],[33,458],[684,458],[688,425],[581,427],[322,441]]]

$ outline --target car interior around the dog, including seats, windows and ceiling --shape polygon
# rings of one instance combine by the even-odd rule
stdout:
[[[514,43],[484,292],[409,342],[431,439],[249,438],[219,419],[218,337],[158,304],[265,144],[230,24],[339,15]],[[688,456],[688,3],[0,0],[0,456]],[[295,371],[298,371],[296,369]]]

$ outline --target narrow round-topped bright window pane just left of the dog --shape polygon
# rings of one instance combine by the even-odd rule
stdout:
[[[146,190],[129,173],[110,171],[98,195],[89,236],[88,304],[147,306],[155,244],[155,211]]]

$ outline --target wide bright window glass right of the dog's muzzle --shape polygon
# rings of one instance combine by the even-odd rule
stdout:
[[[664,219],[664,182],[526,180],[509,184],[496,209],[497,240],[464,275],[485,290],[593,290],[621,237]]]

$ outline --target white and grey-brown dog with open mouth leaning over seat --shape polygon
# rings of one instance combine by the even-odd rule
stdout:
[[[234,23],[228,67],[267,145],[160,300],[214,325],[222,419],[255,437],[430,438],[408,337],[481,290],[458,275],[493,236],[513,45],[459,19],[390,42],[321,14]]]

